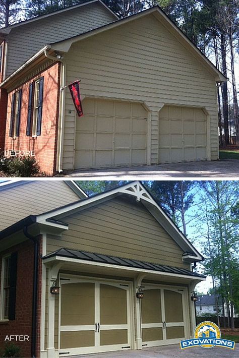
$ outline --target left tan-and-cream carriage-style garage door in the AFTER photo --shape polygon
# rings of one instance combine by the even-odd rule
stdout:
[[[60,354],[132,349],[130,285],[74,281],[61,286]]]

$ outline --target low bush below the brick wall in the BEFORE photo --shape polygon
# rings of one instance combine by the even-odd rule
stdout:
[[[5,158],[0,159],[0,170],[7,175],[30,177],[40,174],[39,166],[35,158]]]

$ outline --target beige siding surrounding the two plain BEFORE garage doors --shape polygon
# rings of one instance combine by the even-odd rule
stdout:
[[[164,104],[206,108],[211,122],[211,159],[217,159],[215,79],[154,15],[78,41],[65,59],[67,83],[80,78],[83,97],[146,104],[150,112],[151,164],[158,162],[158,111]],[[64,169],[74,165],[75,116],[69,114],[70,109],[75,111],[67,91]]]

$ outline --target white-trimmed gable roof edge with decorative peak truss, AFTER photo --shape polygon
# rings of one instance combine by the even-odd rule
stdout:
[[[16,232],[17,230],[22,229],[25,225],[30,225],[32,223],[39,223],[48,226],[55,226],[57,228],[68,229],[68,225],[63,222],[64,217],[122,195],[132,196],[135,198],[136,202],[141,202],[145,206],[151,215],[172,237],[175,243],[183,250],[183,258],[185,261],[197,262],[203,260],[202,255],[200,255],[195,247],[188,241],[186,236],[180,231],[180,229],[178,229],[178,227],[173,223],[169,216],[156,203],[147,189],[138,181],[128,183],[108,192],[82,199],[80,201],[64,205],[39,215],[30,215],[25,218],[26,222],[23,219],[0,232],[0,238],[4,238],[11,233]]]

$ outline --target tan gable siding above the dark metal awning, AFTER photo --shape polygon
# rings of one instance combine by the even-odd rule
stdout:
[[[182,249],[141,203],[116,198],[61,220],[69,230],[61,238],[47,238],[47,253],[65,247],[190,267],[182,262]]]

